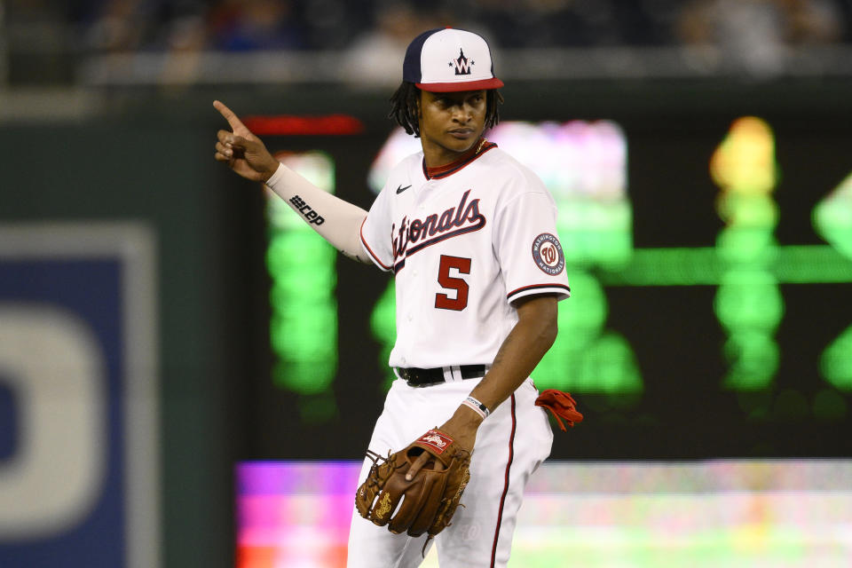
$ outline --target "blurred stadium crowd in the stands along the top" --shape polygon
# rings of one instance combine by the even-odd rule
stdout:
[[[6,83],[38,83],[26,61],[46,52],[66,54],[54,58],[59,68],[146,52],[370,58],[398,53],[418,32],[441,26],[483,33],[498,50],[711,45],[759,57],[788,46],[852,44],[852,0],[6,0],[0,59],[17,62],[6,66],[14,70]]]

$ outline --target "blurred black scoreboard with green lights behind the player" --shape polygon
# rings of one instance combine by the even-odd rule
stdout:
[[[559,208],[572,297],[533,378],[571,391],[587,420],[556,457],[850,454],[852,159],[838,141],[852,131],[738,116],[501,122],[488,138]],[[365,209],[420,149],[402,130],[265,139]],[[264,215],[270,356],[247,457],[357,457],[392,380],[393,281],[272,195]]]

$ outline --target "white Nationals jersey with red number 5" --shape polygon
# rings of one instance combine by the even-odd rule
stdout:
[[[390,172],[361,227],[375,264],[396,275],[391,367],[490,365],[517,323],[511,303],[569,296],[544,184],[496,145],[428,172],[413,154]]]

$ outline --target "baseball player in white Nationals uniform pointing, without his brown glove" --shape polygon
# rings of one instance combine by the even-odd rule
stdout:
[[[288,170],[214,103],[233,130],[218,131],[217,161],[264,182],[344,255],[394,274],[398,380],[369,450],[387,455],[438,427],[472,451],[452,525],[430,540],[353,513],[350,568],[418,566],[432,542],[443,568],[505,566],[525,483],[550,452],[529,375],[556,338],[568,280],[548,190],[483,138],[499,120],[502,85],[482,37],[446,28],[414,38],[390,115],[422,152],[391,171],[369,212]],[[427,465],[441,469],[424,453],[407,476]]]

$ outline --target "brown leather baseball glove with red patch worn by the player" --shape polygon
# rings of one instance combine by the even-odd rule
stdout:
[[[407,480],[406,471],[423,452],[435,459],[428,461],[414,479]],[[370,451],[367,455],[373,467],[355,493],[361,517],[375,525],[388,525],[391,533],[429,533],[429,540],[450,525],[470,478],[470,453],[455,445],[446,432],[429,430],[387,458]],[[445,469],[435,469],[437,461]]]

